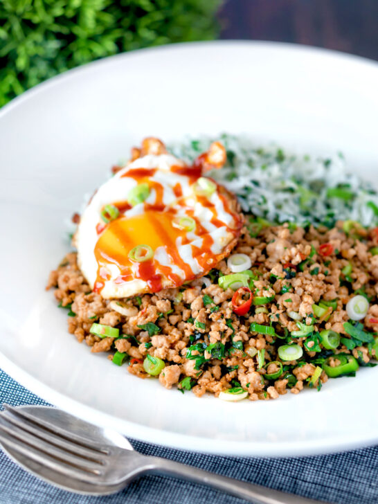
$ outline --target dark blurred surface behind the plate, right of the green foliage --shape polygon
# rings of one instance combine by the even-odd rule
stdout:
[[[226,0],[222,39],[294,42],[378,60],[378,0]]]

